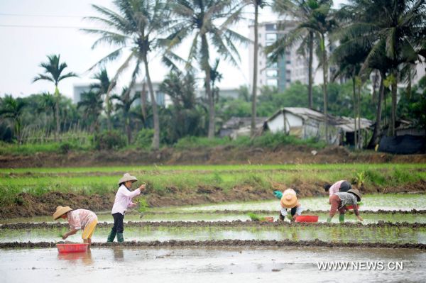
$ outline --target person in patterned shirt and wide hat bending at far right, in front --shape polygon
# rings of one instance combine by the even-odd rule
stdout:
[[[363,221],[361,216],[359,216],[358,206],[356,205],[358,201],[361,201],[361,193],[358,189],[349,189],[348,192],[337,192],[330,196],[330,204],[332,204],[332,206],[330,208],[327,222],[331,222],[334,214],[336,214],[337,210],[339,210],[339,222],[343,223],[346,205],[354,206],[356,218],[358,218],[359,221]]]

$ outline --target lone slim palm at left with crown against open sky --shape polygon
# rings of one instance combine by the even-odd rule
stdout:
[[[60,101],[60,91],[58,89],[58,84],[62,79],[68,77],[77,77],[77,74],[74,72],[69,72],[67,74],[62,74],[63,70],[67,67],[67,63],[60,63],[60,55],[48,55],[48,62],[42,62],[40,67],[45,69],[44,74],[38,74],[33,82],[36,82],[40,79],[53,82],[55,84],[55,118],[56,118],[56,132],[55,140],[58,138],[60,131],[60,121],[59,121],[59,101]],[[62,75],[61,75],[62,74]]]

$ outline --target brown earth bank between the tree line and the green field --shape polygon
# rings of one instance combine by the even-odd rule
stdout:
[[[383,152],[350,152],[342,147],[316,150],[304,145],[281,145],[277,148],[199,148],[175,150],[163,148],[155,152],[142,150],[38,152],[34,155],[1,155],[0,167],[90,167],[119,165],[236,165],[236,164],[300,164],[346,162],[426,162],[426,155],[390,155]]]

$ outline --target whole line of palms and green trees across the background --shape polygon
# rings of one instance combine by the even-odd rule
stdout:
[[[241,91],[241,94],[244,96],[245,92],[250,100],[252,134],[255,129],[254,121],[259,113],[258,108],[263,111],[264,105],[277,100],[273,95],[269,95],[271,89],[259,89],[256,85],[258,49],[263,50],[271,62],[280,60],[285,50],[293,46],[297,46],[300,55],[308,58],[309,79],[304,105],[323,111],[326,117],[326,137],[327,113],[336,113],[334,104],[340,103],[341,99],[332,97],[333,100],[329,101],[330,87],[337,78],[351,82],[351,103],[343,105],[351,108],[352,116],[360,118],[366,83],[371,74],[375,74],[377,82],[372,82],[373,98],[371,104],[368,104],[375,112],[373,118],[376,121],[370,146],[378,143],[382,134],[383,116],[388,125],[388,135],[395,135],[399,83],[407,85],[400,91],[404,92],[408,99],[403,102],[408,103],[411,97],[416,97],[420,99],[416,107],[422,110],[421,99],[424,98],[413,95],[411,80],[415,76],[415,65],[424,62],[426,57],[425,0],[350,0],[340,9],[333,9],[330,0],[115,0],[113,3],[114,9],[92,5],[97,16],[87,18],[88,21],[94,21],[104,27],[84,30],[99,36],[92,47],[107,44],[114,46],[114,51],[89,68],[97,70],[94,74],[97,83],[90,87],[90,91],[82,94],[82,101],[75,109],[72,109],[70,101],[60,94],[58,87],[62,79],[76,76],[73,72],[64,73],[67,65],[60,62],[60,55],[49,55],[48,62],[40,65],[44,72],[34,79],[34,82],[40,79],[53,82],[53,94],[39,94],[36,99],[33,97],[32,102],[31,99],[26,101],[13,99],[11,96],[1,99],[1,116],[12,121],[13,134],[18,141],[21,140],[26,105],[35,103],[34,101],[37,101],[37,107],[32,111],[45,113],[44,122],[38,121],[40,128],[44,125],[49,131],[53,130],[48,113],[52,114],[55,137],[60,131],[67,131],[67,123],[76,125],[81,121],[79,125],[89,127],[91,133],[99,133],[102,128],[111,131],[113,128],[124,126],[124,133],[130,143],[132,129],[136,127],[131,121],[138,121],[138,128],[151,129],[151,147],[154,150],[159,148],[161,140],[173,142],[184,135],[207,135],[213,138],[217,130],[217,113],[224,117],[226,109],[218,106],[235,104],[235,101],[229,99],[222,99],[221,102],[219,98],[217,83],[222,79],[222,74],[218,72],[219,61],[226,60],[238,65],[239,44],[254,45],[255,75],[252,88],[249,91]],[[254,13],[256,35],[259,10],[266,6],[271,6],[280,18],[290,16],[296,23],[295,28],[290,33],[279,34],[276,42],[268,47],[260,46],[257,36],[254,42],[251,42],[232,30],[232,26],[244,18],[244,11],[249,10]],[[285,21],[282,23],[278,24],[278,33],[285,29]],[[190,48],[186,56],[181,56],[175,50],[185,40],[190,42]],[[216,52],[218,58],[212,58],[212,52]],[[153,55],[160,55],[163,63],[170,67],[170,74],[160,87],[173,101],[173,107],[169,109],[158,106],[155,101],[149,64]],[[315,91],[313,86],[315,55],[320,62],[318,67],[323,71],[321,93]],[[105,65],[115,60],[122,62],[110,78]],[[336,72],[329,74],[329,66],[335,66]],[[118,91],[116,82],[129,68],[129,84]],[[205,97],[201,98],[195,95],[196,76],[199,73],[202,74],[206,93]],[[141,93],[132,94],[131,89],[138,77],[144,78],[143,86],[146,86],[146,89]],[[260,96],[258,91],[261,91]],[[390,113],[387,113],[385,103],[388,93],[391,96]],[[131,107],[136,99],[141,101],[140,111]],[[275,104],[277,109],[280,106],[296,105]],[[403,106],[400,108],[404,109]],[[69,117],[67,123],[61,121],[65,116],[73,115],[77,117],[77,121],[70,122],[72,118]],[[418,120],[421,120],[421,117]],[[178,126],[178,133],[170,124]],[[160,136],[161,133],[163,137]]]

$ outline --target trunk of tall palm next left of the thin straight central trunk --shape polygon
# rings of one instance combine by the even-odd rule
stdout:
[[[206,74],[204,82],[206,87],[207,98],[209,99],[209,132],[207,137],[214,138],[214,100],[212,89],[210,87],[212,79],[210,77],[209,46],[205,34],[201,36],[201,52],[203,54],[202,69],[204,69],[204,73]]]

